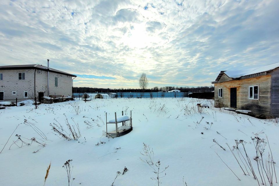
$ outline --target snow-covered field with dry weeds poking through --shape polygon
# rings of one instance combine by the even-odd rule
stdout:
[[[69,159],[73,166],[69,185],[109,186],[114,180],[115,186],[158,185],[156,180],[151,179],[156,178],[153,169],[142,161],[150,160],[142,155],[143,143],[153,149],[154,163],[160,159],[160,171],[169,166],[159,175],[164,176],[160,178],[162,186],[183,186],[185,182],[187,186],[258,185],[248,163],[245,163],[248,160],[242,144],[239,144],[239,150],[234,149],[232,152],[246,176],[226,145],[229,144],[233,149],[235,140],[247,142],[246,153],[261,185],[257,161],[253,159],[257,155],[251,137],[268,137],[274,162],[279,162],[278,119],[256,119],[219,108],[201,109],[196,106],[197,103],[210,107],[214,105],[213,100],[192,98],[117,98],[94,99],[86,103],[76,100],[41,104],[37,109],[32,104],[7,107],[0,110],[0,150],[8,141],[0,154],[0,185],[44,185],[50,162],[45,185],[68,185],[67,172],[62,166]],[[74,109],[75,106],[79,110]],[[114,112],[121,115],[121,111],[124,111],[128,115],[130,110],[133,118],[133,130],[130,133],[113,139],[103,136],[106,130],[105,112],[110,120],[114,119]],[[66,118],[76,131],[76,125],[79,126],[81,137],[78,140],[64,140],[52,130],[50,124],[58,128],[62,126],[69,133]],[[115,125],[108,125],[108,130],[115,129]],[[27,144],[22,145],[16,135],[21,135],[20,139]],[[30,139],[33,137],[40,144],[34,140],[32,142]],[[263,159],[264,167],[270,149],[266,144],[263,156],[258,159],[258,163]],[[239,152],[244,158],[239,158]],[[273,167],[272,160],[269,159],[267,164]],[[274,164],[277,179],[278,164]],[[122,175],[124,167],[128,171]],[[115,179],[117,171],[121,174]],[[270,185],[264,171],[262,175],[265,178],[263,182]],[[273,185],[279,185],[275,182],[273,170]]]

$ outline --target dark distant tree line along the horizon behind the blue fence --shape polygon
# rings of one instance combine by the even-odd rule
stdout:
[[[199,87],[153,87],[150,89],[144,89],[144,92],[168,92],[170,90],[180,90],[181,92],[212,92],[214,90],[213,86],[199,86]],[[73,93],[84,93],[84,92],[143,92],[142,89],[134,88],[91,88],[91,87],[73,87]]]

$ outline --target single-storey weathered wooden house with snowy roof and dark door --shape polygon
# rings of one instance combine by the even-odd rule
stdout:
[[[215,107],[279,117],[279,62],[253,69],[221,71],[212,84]]]

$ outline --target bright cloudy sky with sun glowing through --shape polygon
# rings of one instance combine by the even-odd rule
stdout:
[[[211,85],[279,61],[278,0],[0,1],[0,65],[41,64],[74,86]]]

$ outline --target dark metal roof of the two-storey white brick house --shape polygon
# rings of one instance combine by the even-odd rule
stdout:
[[[38,64],[0,66],[0,70],[9,70],[9,69],[40,69],[40,70],[48,71],[46,66],[38,65]],[[58,73],[58,74],[65,74],[65,75],[68,75],[68,76],[76,77],[76,75],[74,75],[74,74],[69,74],[67,72],[63,72],[63,71],[56,70],[56,69],[53,69],[53,68],[49,68],[49,71],[55,72],[55,73]]]

